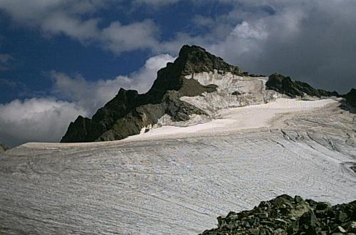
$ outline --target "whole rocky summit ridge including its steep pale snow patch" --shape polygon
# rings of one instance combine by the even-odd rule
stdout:
[[[345,98],[355,105],[353,93]],[[214,111],[220,108],[267,103],[283,95],[290,98],[340,96],[277,73],[269,77],[248,74],[204,48],[186,45],[174,63],[167,63],[158,71],[147,93],[120,88],[115,98],[91,119],[78,116],[71,122],[61,142],[121,140],[140,134],[142,128],[149,130],[147,127],[164,117],[169,117],[169,123],[187,121],[197,115],[203,117],[201,120],[211,120]]]

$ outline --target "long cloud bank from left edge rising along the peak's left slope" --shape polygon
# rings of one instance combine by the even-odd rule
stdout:
[[[145,93],[159,68],[171,61],[174,58],[169,54],[153,56],[138,71],[108,80],[88,81],[81,75],[52,71],[49,75],[53,79],[53,97],[13,100],[0,105],[0,142],[11,146],[30,141],[58,142],[71,121],[78,115],[91,117],[121,87]],[[0,79],[0,83],[18,86],[5,79]]]

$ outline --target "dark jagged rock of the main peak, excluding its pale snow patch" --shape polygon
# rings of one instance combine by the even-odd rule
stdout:
[[[204,114],[179,97],[215,91],[216,85],[204,86],[197,80],[184,78],[184,75],[214,70],[243,74],[239,67],[229,65],[204,48],[183,46],[176,61],[158,71],[147,93],[120,88],[115,98],[100,108],[92,119],[79,116],[71,122],[61,142],[120,140],[137,135],[142,127],[157,123],[164,114],[170,115],[172,120],[187,120],[194,113]]]

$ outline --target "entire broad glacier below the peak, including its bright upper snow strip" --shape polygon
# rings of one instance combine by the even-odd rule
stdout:
[[[278,99],[115,142],[28,143],[0,155],[3,234],[198,234],[216,216],[298,194],[356,199],[356,115]]]

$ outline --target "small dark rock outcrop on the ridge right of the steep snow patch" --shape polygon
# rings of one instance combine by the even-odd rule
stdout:
[[[278,73],[273,73],[268,77],[266,89],[276,90],[279,93],[288,95],[292,98],[297,96],[303,97],[304,95],[311,95],[316,97],[340,96],[336,91],[330,92],[327,90],[315,89],[308,83],[292,80],[290,77],[285,77]]]

